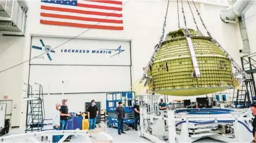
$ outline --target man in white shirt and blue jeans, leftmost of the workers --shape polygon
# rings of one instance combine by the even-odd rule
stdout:
[[[52,114],[52,119],[53,119],[53,129],[54,130],[59,130],[60,128],[60,104],[56,104],[55,109]],[[53,142],[59,142],[60,136],[55,135],[53,136]]]

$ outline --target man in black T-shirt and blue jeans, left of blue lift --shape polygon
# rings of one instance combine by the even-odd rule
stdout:
[[[89,106],[87,112],[89,119],[89,130],[95,129],[95,124],[98,116],[98,108],[96,106],[95,100],[91,101],[91,106]]]

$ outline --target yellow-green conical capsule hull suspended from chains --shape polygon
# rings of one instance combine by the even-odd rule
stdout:
[[[190,29],[200,77],[194,75],[185,30],[170,32],[156,53],[148,76],[150,90],[170,96],[198,96],[234,88],[231,62],[210,37]]]

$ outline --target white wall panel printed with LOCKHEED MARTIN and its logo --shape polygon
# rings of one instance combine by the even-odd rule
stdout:
[[[31,64],[131,65],[130,41],[32,37],[31,58]]]

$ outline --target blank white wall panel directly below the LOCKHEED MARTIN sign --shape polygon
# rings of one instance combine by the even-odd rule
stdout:
[[[130,66],[30,66],[30,84],[41,84],[44,93],[114,92],[129,90],[131,86]]]

